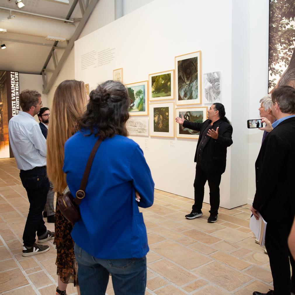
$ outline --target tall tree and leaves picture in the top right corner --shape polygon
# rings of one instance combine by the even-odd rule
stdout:
[[[268,91],[295,88],[295,1],[269,1]]]

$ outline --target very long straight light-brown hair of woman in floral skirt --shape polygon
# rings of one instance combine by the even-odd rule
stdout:
[[[54,191],[67,186],[63,173],[64,146],[77,130],[77,122],[87,104],[84,82],[65,80],[55,90],[47,134],[47,175]]]

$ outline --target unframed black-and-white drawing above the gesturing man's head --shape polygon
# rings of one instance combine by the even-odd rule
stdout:
[[[211,72],[203,75],[203,104],[221,102],[220,74],[221,72]]]

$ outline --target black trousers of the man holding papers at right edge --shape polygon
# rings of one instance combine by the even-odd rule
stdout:
[[[287,244],[292,222],[293,219],[281,219],[278,216],[276,220],[269,221],[266,225],[265,247],[271,266],[275,295],[290,295],[290,291],[295,292],[295,262]]]

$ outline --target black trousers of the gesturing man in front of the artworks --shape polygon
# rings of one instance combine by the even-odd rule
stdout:
[[[211,210],[209,212],[211,214],[218,214],[220,201],[219,184],[221,181],[221,174],[207,174],[199,165],[196,165],[196,177],[194,181],[195,204],[192,209],[195,212],[201,211],[204,200],[204,186],[207,180],[210,189],[209,195]]]

